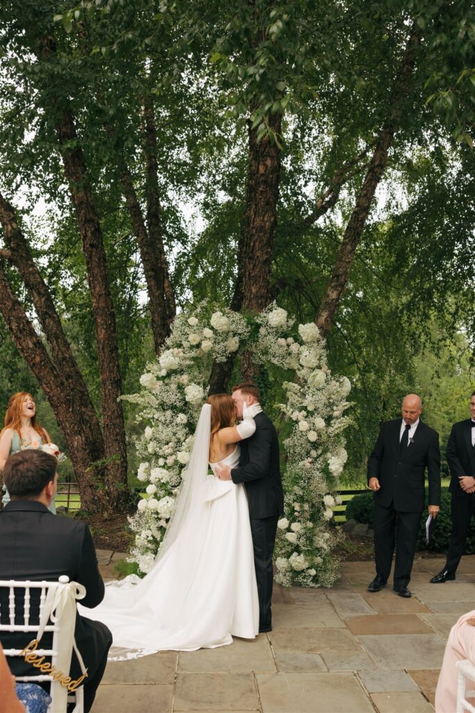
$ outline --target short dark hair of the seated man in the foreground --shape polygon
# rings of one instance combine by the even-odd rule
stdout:
[[[28,448],[14,453],[4,466],[4,483],[11,498],[34,500],[54,480],[58,461],[44,451]]]

